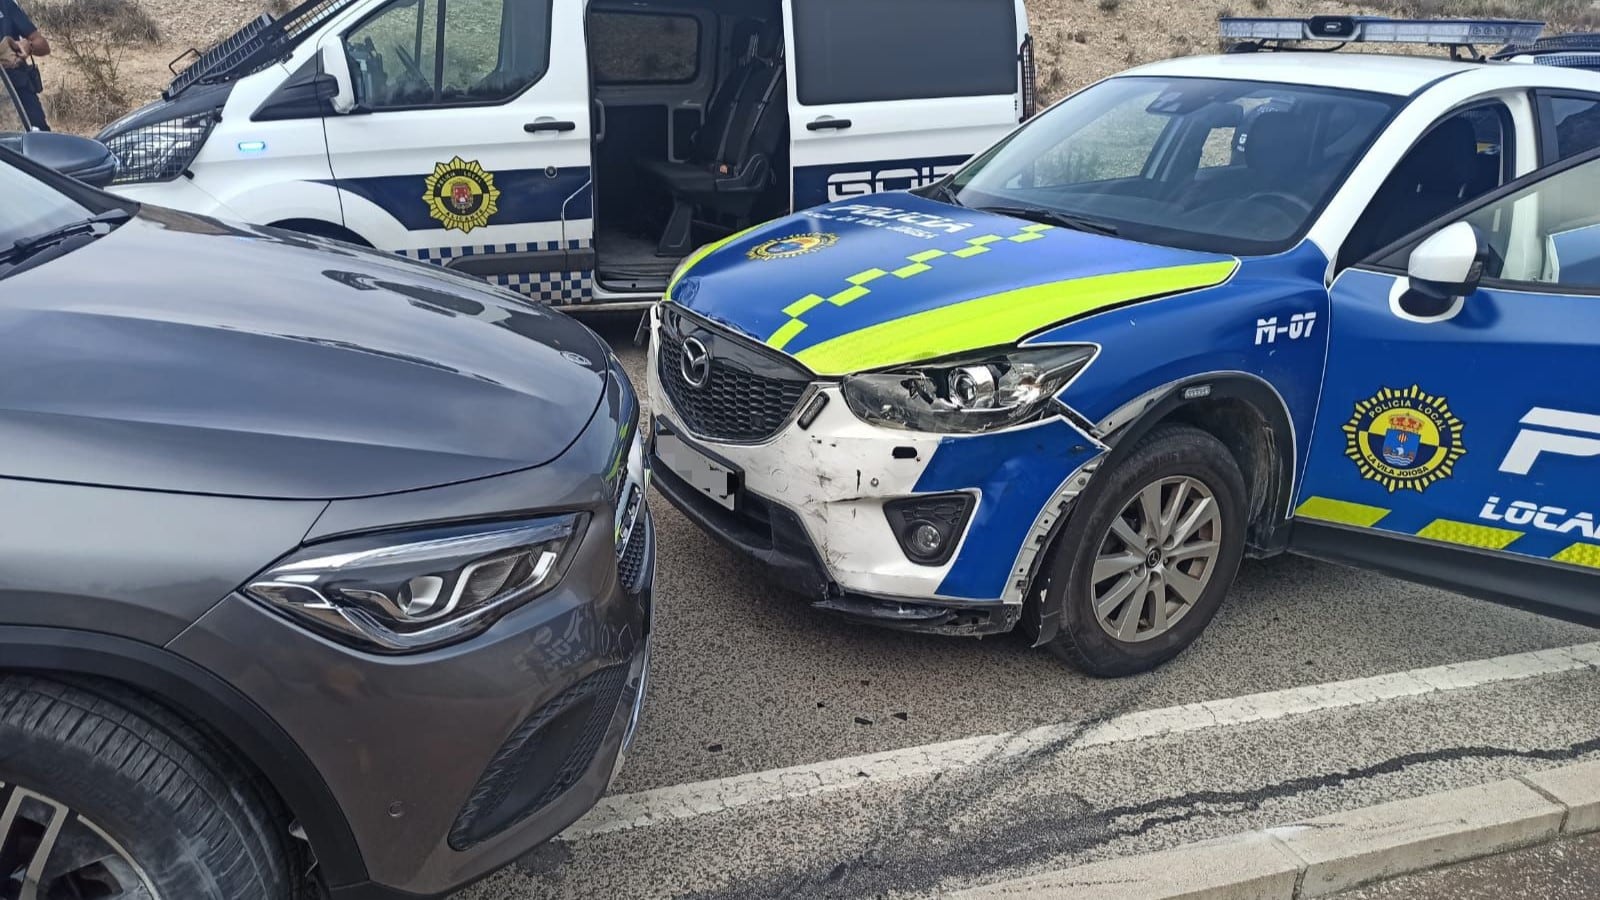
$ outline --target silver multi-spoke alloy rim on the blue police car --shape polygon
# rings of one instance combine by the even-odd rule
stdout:
[[[1117,641],[1171,631],[1200,602],[1222,551],[1222,514],[1189,476],[1155,480],[1110,520],[1090,575],[1094,618]]]

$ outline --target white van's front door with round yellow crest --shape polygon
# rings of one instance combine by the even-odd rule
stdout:
[[[346,226],[538,299],[589,291],[582,3],[389,0],[330,34],[354,96],[328,117]]]

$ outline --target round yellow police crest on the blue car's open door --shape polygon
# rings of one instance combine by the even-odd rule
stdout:
[[[1416,384],[1405,391],[1384,388],[1355,404],[1355,415],[1344,424],[1344,455],[1363,479],[1390,493],[1422,492],[1454,472],[1456,460],[1467,453],[1464,431],[1445,397]]]

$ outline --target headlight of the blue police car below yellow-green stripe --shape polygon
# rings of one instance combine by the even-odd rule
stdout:
[[[1099,352],[1069,344],[845,378],[858,418],[909,431],[974,434],[1050,415],[1051,400]]]

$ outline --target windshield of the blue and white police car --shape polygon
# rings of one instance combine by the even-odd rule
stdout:
[[[1110,78],[974,160],[944,197],[1048,210],[1146,243],[1278,253],[1400,102],[1264,82]]]

